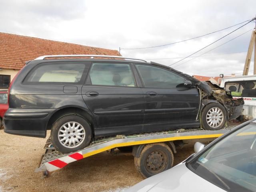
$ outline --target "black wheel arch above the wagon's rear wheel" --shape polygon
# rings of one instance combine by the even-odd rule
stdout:
[[[80,106],[66,106],[66,107],[62,107],[59,110],[57,110],[56,112],[54,112],[52,114],[52,116],[50,117],[50,119],[48,120],[46,129],[47,130],[51,130],[52,128],[52,124],[58,120],[60,117],[68,115],[68,114],[75,114],[75,115],[79,115],[82,118],[84,118],[91,126],[92,128],[92,134],[94,135],[94,129],[97,127],[97,123],[96,120],[94,119],[94,116],[92,116],[91,112],[81,108]]]

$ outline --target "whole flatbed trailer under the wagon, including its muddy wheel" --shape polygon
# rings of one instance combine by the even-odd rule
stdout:
[[[134,164],[142,176],[149,177],[173,166],[176,153],[175,141],[217,138],[234,126],[226,126],[222,130],[180,129],[164,132],[153,132],[134,135],[118,135],[93,141],[82,150],[69,154],[62,154],[55,150],[50,138],[45,145],[36,172],[43,172],[44,176],[63,168],[67,164],[104,151],[115,148],[132,146]]]

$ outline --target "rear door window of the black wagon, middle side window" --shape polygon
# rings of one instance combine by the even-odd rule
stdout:
[[[135,86],[129,64],[93,63],[88,78],[92,85]]]

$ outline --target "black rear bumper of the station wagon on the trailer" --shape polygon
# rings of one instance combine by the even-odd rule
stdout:
[[[10,108],[4,115],[4,132],[45,138],[47,123],[55,110]]]

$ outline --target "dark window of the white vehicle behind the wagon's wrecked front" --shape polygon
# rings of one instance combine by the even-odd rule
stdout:
[[[256,81],[230,81],[225,83],[225,88],[231,91],[232,96],[256,97]]]

